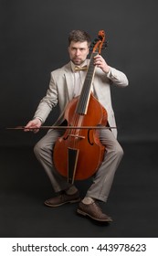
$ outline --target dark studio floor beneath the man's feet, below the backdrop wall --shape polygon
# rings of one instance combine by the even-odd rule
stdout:
[[[33,149],[0,150],[0,237],[158,237],[158,144],[122,144],[124,157],[108,203],[114,220],[100,225],[76,214],[77,204],[47,208],[53,195]],[[76,183],[83,197],[90,181]]]

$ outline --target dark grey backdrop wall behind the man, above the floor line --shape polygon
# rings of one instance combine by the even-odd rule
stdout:
[[[1,0],[1,145],[35,144],[37,135],[5,131],[24,125],[45,95],[50,71],[68,62],[68,32],[106,32],[102,56],[126,73],[130,86],[112,88],[119,140],[155,141],[157,133],[157,2]],[[54,111],[47,124],[57,117]]]

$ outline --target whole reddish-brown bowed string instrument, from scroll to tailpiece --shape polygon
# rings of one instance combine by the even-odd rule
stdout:
[[[78,97],[69,101],[65,111],[68,127],[58,138],[53,150],[53,162],[58,173],[68,177],[68,183],[71,184],[74,180],[93,176],[105,152],[105,146],[100,144],[99,127],[107,125],[108,113],[91,92],[96,69],[93,59],[105,45],[105,32],[100,30],[92,46],[82,91]]]

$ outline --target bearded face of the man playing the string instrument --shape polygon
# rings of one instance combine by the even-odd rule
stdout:
[[[68,47],[69,59],[75,64],[80,65],[85,61],[89,54],[88,42],[71,41]]]

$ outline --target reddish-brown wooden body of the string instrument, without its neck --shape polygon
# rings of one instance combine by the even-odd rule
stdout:
[[[68,103],[65,112],[68,126],[106,125],[107,112],[92,93],[86,116],[76,112],[78,101],[79,97]],[[68,176],[68,182],[73,182],[74,179],[92,176],[102,162],[104,151],[105,146],[100,144],[97,129],[68,129],[58,138],[53,159],[58,172],[62,176]]]

